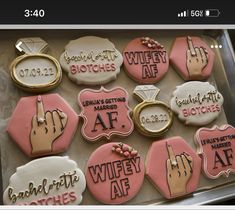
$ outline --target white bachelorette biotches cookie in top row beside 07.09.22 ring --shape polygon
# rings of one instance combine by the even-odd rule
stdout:
[[[100,85],[115,80],[122,63],[114,44],[96,36],[70,41],[60,56],[62,68],[77,84]]]

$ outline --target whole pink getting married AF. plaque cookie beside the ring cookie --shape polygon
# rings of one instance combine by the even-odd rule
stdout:
[[[113,135],[128,136],[134,129],[128,93],[123,88],[84,89],[78,95],[78,104],[84,120],[82,135],[88,141],[110,140]]]

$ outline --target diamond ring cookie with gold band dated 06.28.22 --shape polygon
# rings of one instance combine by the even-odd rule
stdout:
[[[154,85],[139,85],[134,90],[134,95],[142,101],[133,110],[135,125],[143,135],[150,137],[165,133],[173,121],[171,109],[156,100],[159,91]]]

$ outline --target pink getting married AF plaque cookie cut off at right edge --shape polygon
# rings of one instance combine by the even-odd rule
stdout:
[[[235,128],[231,125],[200,128],[195,134],[202,169],[211,179],[235,173]]]

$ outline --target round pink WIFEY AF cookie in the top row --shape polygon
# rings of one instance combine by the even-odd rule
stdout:
[[[169,67],[164,46],[149,37],[129,42],[123,51],[123,62],[127,74],[139,84],[160,81]]]

